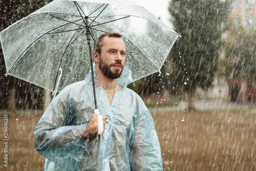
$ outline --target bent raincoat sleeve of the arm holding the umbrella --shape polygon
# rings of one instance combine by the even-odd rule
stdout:
[[[69,103],[67,89],[60,92],[50,103],[36,125],[35,148],[57,165],[76,170],[89,139],[82,140],[87,124],[72,124],[73,109]]]

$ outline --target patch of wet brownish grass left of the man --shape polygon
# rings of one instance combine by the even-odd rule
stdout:
[[[40,115],[24,114],[8,116],[8,167],[4,166],[4,144],[1,143],[0,170],[42,170],[45,158],[36,152],[34,147],[34,129]],[[1,140],[4,138],[4,115],[0,115],[2,130]]]

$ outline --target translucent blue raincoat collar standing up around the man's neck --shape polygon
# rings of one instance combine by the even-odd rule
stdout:
[[[95,86],[98,84],[98,78],[96,74],[96,65],[93,63],[93,74],[94,74],[94,81],[95,81]],[[88,83],[92,84],[92,72],[91,69],[89,73],[86,75],[86,81]],[[128,67],[123,68],[123,72],[120,76],[120,78],[117,79],[117,83],[120,84],[123,88],[126,88],[128,84],[133,82],[133,77],[132,77],[132,72]]]

